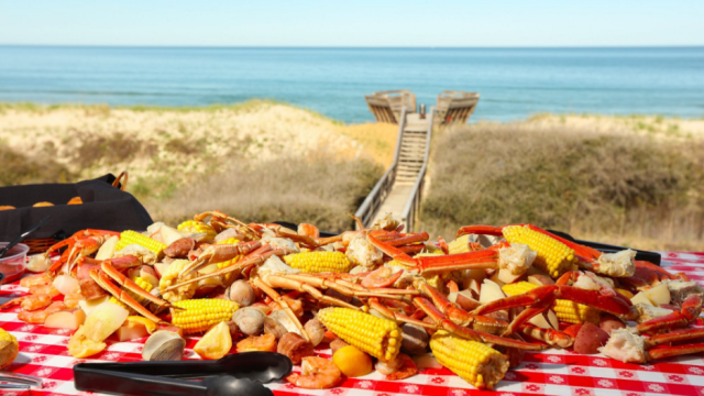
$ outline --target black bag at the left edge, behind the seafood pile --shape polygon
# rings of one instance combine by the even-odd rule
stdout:
[[[0,211],[0,241],[11,241],[47,215],[52,218],[32,239],[62,240],[85,229],[109,231],[146,230],[153,223],[136,198],[112,184],[112,174],[76,184],[41,184],[0,188],[0,206],[16,209]],[[66,205],[80,197],[81,205]],[[51,207],[32,207],[48,201]]]

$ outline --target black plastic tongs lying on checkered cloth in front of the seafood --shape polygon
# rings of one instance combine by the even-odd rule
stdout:
[[[78,363],[78,391],[138,396],[271,396],[262,384],[283,380],[294,367],[283,354],[243,352],[218,361]],[[201,378],[201,381],[187,381]]]

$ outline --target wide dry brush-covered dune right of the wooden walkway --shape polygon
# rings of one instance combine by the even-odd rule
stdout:
[[[564,124],[477,124],[432,147],[422,227],[530,222],[602,242],[704,250],[704,141]]]

